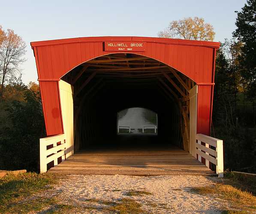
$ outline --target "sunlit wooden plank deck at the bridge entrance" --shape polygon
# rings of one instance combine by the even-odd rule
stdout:
[[[91,149],[76,152],[48,172],[84,175],[215,175],[177,147],[169,149]]]

